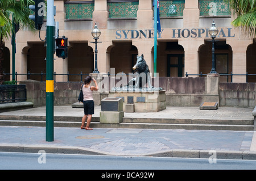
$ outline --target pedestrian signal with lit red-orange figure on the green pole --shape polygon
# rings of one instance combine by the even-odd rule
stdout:
[[[68,38],[57,37],[56,39],[56,56],[65,59],[68,57]]]

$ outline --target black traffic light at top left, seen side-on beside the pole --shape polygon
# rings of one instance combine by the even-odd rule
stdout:
[[[44,23],[44,11],[45,3],[44,0],[34,0],[35,5],[28,6],[29,9],[35,12],[35,15],[30,15],[28,18],[32,19],[35,22],[36,30],[40,30],[42,24]]]

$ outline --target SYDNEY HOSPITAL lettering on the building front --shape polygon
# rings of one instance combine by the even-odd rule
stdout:
[[[167,32],[171,35],[170,38],[196,38],[196,37],[210,37],[208,33],[209,28],[184,28],[172,29]],[[158,33],[158,38],[162,38],[164,30]],[[234,37],[232,28],[219,28],[217,37]],[[117,30],[115,31],[115,39],[151,39],[154,38],[154,30]]]

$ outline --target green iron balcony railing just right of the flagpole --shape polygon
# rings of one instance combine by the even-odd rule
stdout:
[[[172,17],[183,16],[185,1],[159,1],[159,16]]]

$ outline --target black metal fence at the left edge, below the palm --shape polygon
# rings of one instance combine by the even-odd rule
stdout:
[[[26,85],[0,85],[0,104],[26,101]]]

